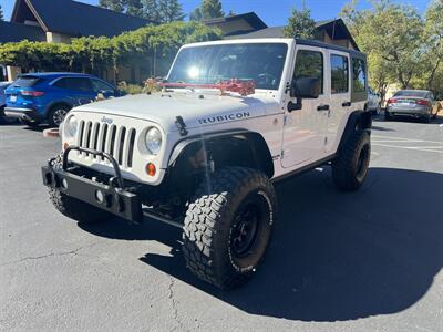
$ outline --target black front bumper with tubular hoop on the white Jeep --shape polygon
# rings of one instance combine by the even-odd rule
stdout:
[[[71,151],[82,151],[102,156],[113,164],[116,176],[107,185],[71,173],[68,168],[68,155]],[[80,147],[68,147],[63,154],[62,167],[53,167],[52,160],[42,167],[43,184],[58,189],[69,197],[87,203],[107,212],[133,222],[143,220],[142,203],[138,196],[124,188],[119,164],[102,152]]]

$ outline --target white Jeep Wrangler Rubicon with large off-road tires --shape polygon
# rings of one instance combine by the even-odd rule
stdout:
[[[62,214],[181,227],[188,268],[226,289],[265,256],[272,183],[326,164],[343,190],[367,176],[371,116],[359,52],[292,39],[189,44],[161,85],[66,115],[63,153],[42,168]]]

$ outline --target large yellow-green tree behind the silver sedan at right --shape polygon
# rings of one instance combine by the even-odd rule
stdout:
[[[389,0],[374,0],[372,9],[359,11],[353,0],[342,9],[341,17],[362,52],[369,55],[372,83],[381,89],[388,80],[402,89],[412,87],[422,72],[423,60],[424,22],[416,10]]]

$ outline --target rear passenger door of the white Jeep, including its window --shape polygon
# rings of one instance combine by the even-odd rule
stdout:
[[[339,126],[351,104],[350,59],[349,53],[328,51],[328,71],[330,90],[330,113],[326,132],[324,153],[332,152],[337,146]]]

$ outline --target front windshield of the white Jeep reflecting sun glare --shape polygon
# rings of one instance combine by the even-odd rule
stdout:
[[[253,80],[256,89],[278,90],[288,45],[245,43],[183,49],[167,77],[173,83],[215,84]]]

